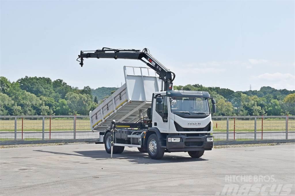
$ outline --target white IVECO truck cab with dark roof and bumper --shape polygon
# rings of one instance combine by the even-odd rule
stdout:
[[[212,100],[208,92],[200,91],[154,93],[149,131],[161,133],[160,146],[166,152],[212,150],[209,99]]]

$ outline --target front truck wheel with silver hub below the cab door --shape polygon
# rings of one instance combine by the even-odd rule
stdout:
[[[157,134],[151,134],[148,138],[147,150],[151,159],[161,159],[164,156],[165,149],[160,148]]]

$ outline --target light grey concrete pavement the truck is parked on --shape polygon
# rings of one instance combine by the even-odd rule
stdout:
[[[234,195],[254,186],[259,195],[295,194],[295,145],[213,149],[200,159],[165,153],[161,160],[125,149],[113,159],[103,144],[0,149],[0,195]]]

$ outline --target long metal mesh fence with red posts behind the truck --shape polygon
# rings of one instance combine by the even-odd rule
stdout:
[[[295,142],[293,116],[212,117],[214,144]],[[0,116],[0,145],[94,142],[89,116]]]

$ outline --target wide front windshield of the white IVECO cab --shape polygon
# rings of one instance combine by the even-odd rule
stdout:
[[[210,114],[206,97],[170,97],[172,113]]]

